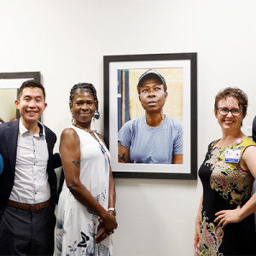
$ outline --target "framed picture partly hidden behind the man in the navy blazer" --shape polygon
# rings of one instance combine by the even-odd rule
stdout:
[[[40,72],[0,73],[0,118],[4,122],[20,118],[15,100],[21,84],[28,79],[41,82]]]

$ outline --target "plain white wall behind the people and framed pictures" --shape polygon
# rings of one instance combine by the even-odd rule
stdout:
[[[103,55],[197,52],[200,166],[208,143],[221,136],[212,113],[218,90],[247,92],[244,131],[256,112],[255,9],[254,0],[0,0],[0,72],[42,73],[44,124],[60,137],[71,121],[73,84],[96,85],[103,116]],[[103,133],[103,119],[94,127]],[[201,182],[115,183],[114,256],[193,255]]]

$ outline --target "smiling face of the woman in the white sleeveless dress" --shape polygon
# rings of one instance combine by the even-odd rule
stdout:
[[[96,110],[94,96],[90,92],[79,91],[79,94],[73,97],[73,104],[69,107],[78,125],[89,123]]]

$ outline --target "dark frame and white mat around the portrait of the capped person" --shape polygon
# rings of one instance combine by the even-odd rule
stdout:
[[[118,71],[137,68],[183,68],[183,165],[118,163]],[[197,54],[104,56],[104,139],[113,177],[197,178]]]

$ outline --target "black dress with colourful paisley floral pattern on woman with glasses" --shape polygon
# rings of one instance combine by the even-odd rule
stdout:
[[[201,236],[195,255],[256,255],[253,214],[240,223],[227,224],[224,228],[214,223],[216,212],[236,209],[239,202],[242,202],[242,207],[250,199],[254,181],[251,172],[241,169],[239,163],[224,161],[226,150],[238,149],[242,155],[247,147],[256,146],[256,143],[249,137],[223,148],[216,147],[216,143],[218,141],[210,143],[206,159],[199,170],[203,184],[203,202]]]

